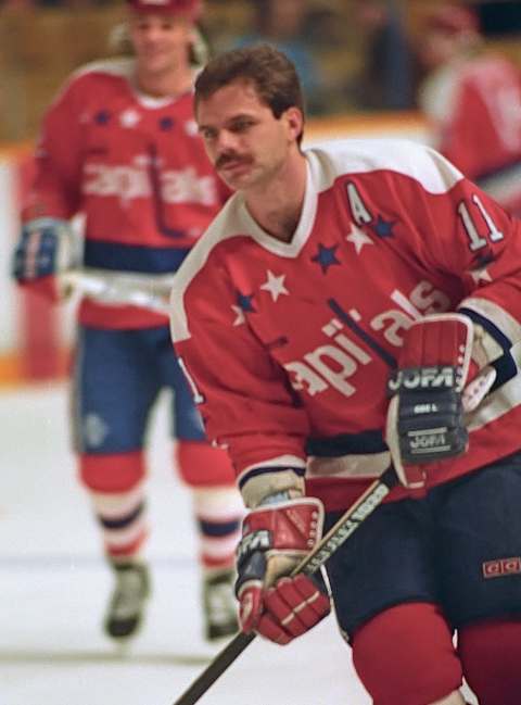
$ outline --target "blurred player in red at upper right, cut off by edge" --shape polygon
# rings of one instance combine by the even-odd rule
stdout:
[[[470,8],[441,4],[421,32],[419,103],[434,147],[504,207],[521,214],[521,72],[483,50]]]

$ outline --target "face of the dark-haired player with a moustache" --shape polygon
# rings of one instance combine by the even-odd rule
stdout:
[[[236,190],[269,182],[283,167],[302,130],[297,108],[276,118],[255,88],[242,80],[201,99],[196,121],[211,161]]]

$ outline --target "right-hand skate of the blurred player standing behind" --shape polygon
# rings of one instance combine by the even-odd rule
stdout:
[[[239,630],[233,570],[208,572],[203,581],[205,637],[208,641],[231,637]]]

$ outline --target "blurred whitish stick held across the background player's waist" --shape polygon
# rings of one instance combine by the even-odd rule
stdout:
[[[86,267],[63,272],[60,284],[65,291],[73,289],[101,303],[131,304],[168,315],[174,277]]]

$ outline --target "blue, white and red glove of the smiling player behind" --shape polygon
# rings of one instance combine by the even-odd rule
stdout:
[[[67,221],[42,217],[25,223],[13,253],[13,277],[56,301],[61,298],[56,275],[75,264],[73,244]]]

